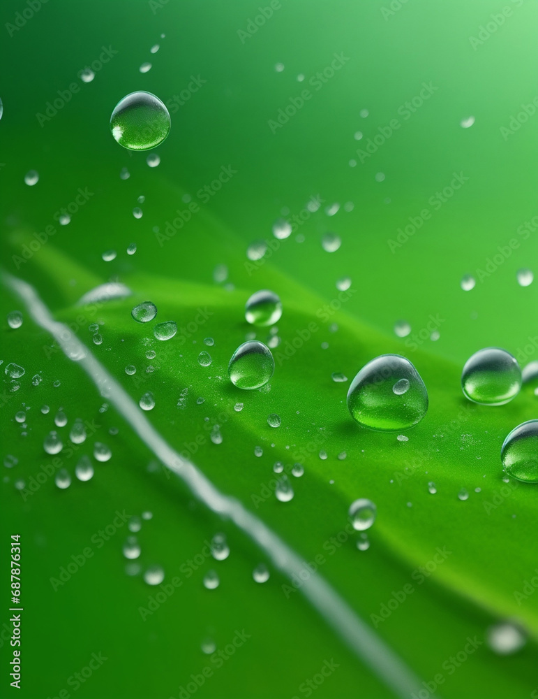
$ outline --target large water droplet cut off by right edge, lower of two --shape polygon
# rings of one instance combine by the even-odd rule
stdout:
[[[538,420],[528,420],[509,433],[501,449],[505,473],[518,481],[538,483]]]

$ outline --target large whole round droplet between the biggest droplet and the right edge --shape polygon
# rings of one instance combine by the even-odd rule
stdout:
[[[506,349],[479,349],[465,362],[461,387],[474,403],[505,405],[521,389],[521,368]]]

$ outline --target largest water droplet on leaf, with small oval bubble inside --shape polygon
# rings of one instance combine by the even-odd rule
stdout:
[[[407,391],[396,394],[401,380]],[[360,425],[378,431],[413,427],[428,410],[428,392],[412,363],[399,354],[382,354],[369,361],[351,382],[348,408]]]

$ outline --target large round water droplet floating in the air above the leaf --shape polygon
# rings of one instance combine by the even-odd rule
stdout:
[[[170,114],[151,92],[131,92],[114,107],[110,130],[124,148],[149,150],[170,133]]]

